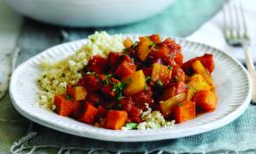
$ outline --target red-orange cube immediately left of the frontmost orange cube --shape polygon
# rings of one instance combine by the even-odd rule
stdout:
[[[82,113],[79,121],[87,124],[94,124],[97,117],[98,109],[95,108],[90,102],[87,102],[84,106],[84,112]]]

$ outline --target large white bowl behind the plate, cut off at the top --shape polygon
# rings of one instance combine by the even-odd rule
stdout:
[[[136,22],[174,0],[5,0],[34,20],[69,27],[107,27]]]

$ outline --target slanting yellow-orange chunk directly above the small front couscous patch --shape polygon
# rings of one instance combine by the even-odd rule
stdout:
[[[175,105],[186,99],[186,93],[180,93],[176,96],[171,97],[167,101],[160,101],[160,109],[165,118],[169,118],[173,114]]]

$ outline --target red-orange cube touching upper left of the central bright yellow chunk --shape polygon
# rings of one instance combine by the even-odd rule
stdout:
[[[120,63],[119,67],[116,69],[115,75],[120,78],[124,78],[124,77],[128,77],[135,71],[136,71],[136,65],[131,64],[128,61],[123,61],[122,63]]]

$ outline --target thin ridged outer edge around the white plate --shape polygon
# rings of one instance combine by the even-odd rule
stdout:
[[[130,35],[128,35],[130,36]],[[135,35],[133,35],[135,36]],[[200,43],[196,43],[196,42],[193,42],[193,41],[188,41],[186,39],[183,39],[183,38],[178,38],[178,37],[174,37],[174,38],[177,38],[177,39],[181,39],[181,40],[185,40],[187,42],[191,42],[191,43],[194,43],[194,44],[199,44],[199,45],[203,45],[203,44],[200,44]],[[71,43],[75,43],[75,42],[81,42],[81,41],[86,41],[86,39],[82,39],[82,40],[78,40],[78,41],[74,41],[74,42],[71,42]],[[70,43],[65,43],[65,44],[70,44]],[[63,45],[63,44],[62,44]],[[58,46],[58,45],[56,45]],[[54,46],[54,47],[56,47]],[[204,46],[209,46],[209,45],[204,45]],[[52,48],[54,48],[52,47]],[[211,47],[211,46],[210,46]],[[51,50],[52,48],[49,48],[47,50]],[[224,53],[222,52],[221,50],[219,49],[216,49],[214,47],[211,47],[215,50],[217,50],[218,52],[220,53]],[[47,51],[45,50],[45,51]],[[42,52],[42,53],[45,53]],[[41,54],[41,53],[39,53]],[[219,120],[216,120],[216,121],[213,121],[211,123],[208,123],[208,124],[205,124],[203,126],[196,126],[197,129],[195,130],[189,130],[189,131],[185,131],[185,134],[183,135],[178,135],[178,136],[169,136],[169,135],[164,135],[164,137],[162,136],[162,134],[160,134],[160,137],[158,136],[155,136],[155,134],[143,134],[143,135],[139,135],[139,136],[136,136],[138,137],[136,139],[136,137],[128,137],[128,136],[109,136],[109,135],[105,135],[105,136],[96,136],[95,137],[95,134],[82,134],[81,132],[70,132],[70,130],[63,130],[60,126],[59,127],[56,127],[56,126],[52,126],[51,124],[49,124],[48,122],[43,122],[41,119],[38,119],[38,118],[33,118],[33,116],[31,115],[27,115],[26,111],[24,111],[23,109],[21,109],[19,107],[18,104],[16,104],[14,101],[13,101],[13,98],[12,98],[12,80],[11,80],[11,83],[10,83],[10,96],[11,96],[11,100],[12,100],[12,104],[14,106],[15,109],[17,109],[21,115],[23,115],[24,117],[26,118],[29,118],[31,119],[32,121],[35,121],[43,126],[47,126],[47,127],[51,127],[55,130],[58,130],[58,131],[61,131],[61,132],[64,132],[64,133],[68,133],[68,134],[74,134],[74,135],[78,135],[78,136],[83,136],[83,137],[88,137],[88,138],[94,138],[94,139],[97,139],[97,140],[104,140],[104,141],[113,141],[113,142],[145,142],[145,141],[157,141],[157,140],[165,140],[165,139],[174,139],[174,138],[178,138],[178,137],[185,137],[185,136],[190,136],[190,135],[194,135],[194,134],[202,134],[204,132],[208,132],[208,131],[211,131],[213,129],[216,129],[216,128],[219,128],[221,126],[225,126],[227,124],[229,124],[230,122],[232,122],[233,120],[235,120],[235,118],[238,118],[242,115],[242,113],[244,112],[245,109],[247,109],[248,105],[250,104],[250,101],[251,101],[251,97],[250,97],[250,93],[252,93],[252,83],[251,83],[251,79],[248,75],[248,72],[246,71],[246,69],[244,69],[243,65],[235,60],[235,58],[233,58],[232,56],[230,56],[229,54],[227,53],[224,53],[228,58],[231,58],[232,61],[235,61],[235,64],[236,65],[239,65],[240,68],[242,68],[244,70],[244,75],[247,77],[248,79],[248,83],[249,83],[249,93],[247,93],[247,96],[246,96],[246,99],[244,101],[243,104],[241,104],[237,109],[233,110],[232,112],[230,112],[226,117],[224,118],[220,118]],[[39,55],[36,55],[30,59],[33,59],[35,57],[37,57]],[[29,60],[30,60],[29,59]],[[28,60],[28,61],[29,61]],[[23,63],[26,63],[27,61],[23,62]],[[22,64],[23,64],[22,63]],[[19,66],[21,67],[22,64]],[[17,69],[19,69],[19,67]],[[15,74],[15,71],[14,73]],[[218,125],[216,125],[216,123],[218,123]],[[201,129],[203,129],[204,131],[202,131]],[[188,133],[187,133],[188,132]]]

